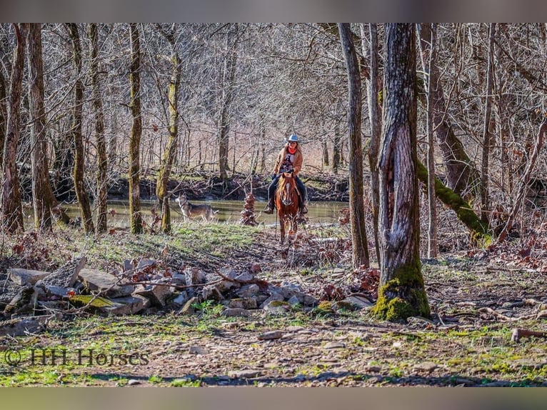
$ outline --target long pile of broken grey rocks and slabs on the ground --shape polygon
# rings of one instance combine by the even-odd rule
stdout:
[[[54,272],[9,269],[0,284],[0,309],[3,319],[10,320],[0,322],[0,329],[13,323],[14,318],[78,311],[107,315],[165,311],[192,314],[201,302],[214,301],[224,306],[223,316],[249,316],[257,309],[266,314],[313,309],[319,302],[298,284],[259,279],[258,264],[244,271],[225,268],[209,273],[195,267],[172,271],[152,259],[126,260],[124,268],[116,273],[87,269],[85,264],[86,258],[80,257]],[[354,302],[357,309],[365,307]],[[4,333],[16,332],[8,329]]]

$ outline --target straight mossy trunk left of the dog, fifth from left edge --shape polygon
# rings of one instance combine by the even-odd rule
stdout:
[[[141,165],[139,151],[141,149],[142,117],[141,117],[141,44],[139,26],[129,24],[131,42],[131,66],[129,68],[129,86],[131,89],[131,137],[129,139],[129,225],[131,234],[141,234],[143,231],[141,214],[141,191],[139,179]]]

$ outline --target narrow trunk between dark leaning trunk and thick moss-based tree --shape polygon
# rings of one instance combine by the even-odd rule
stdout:
[[[371,144],[368,146],[368,166],[371,169],[371,193],[372,193],[372,221],[374,226],[374,246],[376,258],[380,260],[380,242],[378,239],[378,213],[380,209],[380,182],[378,175],[378,154],[380,151],[380,139],[382,132],[381,107],[379,94],[381,90],[381,78],[378,70],[378,27],[376,24],[369,24],[371,36],[371,48],[369,51],[371,59],[371,78],[368,84],[368,117],[371,121]],[[361,37],[364,39],[364,27],[361,25]],[[363,46],[363,55],[365,54]]]

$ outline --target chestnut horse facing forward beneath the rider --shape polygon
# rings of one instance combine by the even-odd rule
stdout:
[[[298,187],[292,172],[283,172],[279,177],[276,191],[276,208],[279,216],[279,230],[281,231],[281,244],[285,240],[285,228],[290,224],[289,235],[295,235],[298,226],[296,216],[298,214]]]

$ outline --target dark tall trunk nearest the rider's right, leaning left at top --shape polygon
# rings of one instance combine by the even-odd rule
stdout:
[[[351,242],[353,244],[353,269],[368,268],[365,210],[363,206],[363,149],[361,147],[361,74],[353,36],[348,23],[338,24],[343,55],[348,69],[348,134],[349,150],[349,214]]]

